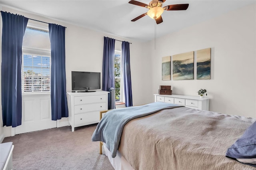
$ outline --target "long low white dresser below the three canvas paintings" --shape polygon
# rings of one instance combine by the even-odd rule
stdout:
[[[200,96],[185,96],[185,95],[155,95],[155,102],[166,102],[191,107],[199,110],[209,110],[209,98]]]

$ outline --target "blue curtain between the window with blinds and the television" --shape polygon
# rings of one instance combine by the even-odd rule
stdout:
[[[52,120],[68,117],[65,69],[65,27],[49,24],[51,43],[51,104]]]

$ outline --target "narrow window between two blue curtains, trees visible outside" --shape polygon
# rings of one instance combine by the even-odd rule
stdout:
[[[115,96],[116,103],[123,102],[122,100],[122,53],[121,51],[115,50]]]

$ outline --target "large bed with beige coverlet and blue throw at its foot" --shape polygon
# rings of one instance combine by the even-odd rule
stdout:
[[[177,105],[171,105],[170,108],[162,106],[165,104],[160,105],[164,109],[155,109],[148,115],[143,112],[142,117],[131,117],[133,111],[128,108],[114,109],[104,115],[92,141],[104,143],[106,155],[115,169],[255,170],[253,166],[226,157],[227,149],[255,119]],[[134,112],[138,111],[136,108]],[[106,121],[110,115],[112,121]],[[120,128],[116,125],[122,122],[120,117],[131,119],[124,121]],[[116,154],[113,147],[108,146],[109,140],[118,136],[108,132],[107,128],[112,125],[113,129],[121,129],[120,140],[113,142],[118,148]],[[109,136],[114,137],[106,140]]]

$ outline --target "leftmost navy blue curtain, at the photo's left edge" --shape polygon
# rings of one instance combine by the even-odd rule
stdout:
[[[28,18],[3,12],[2,14],[2,118],[3,126],[21,125],[22,42]]]

